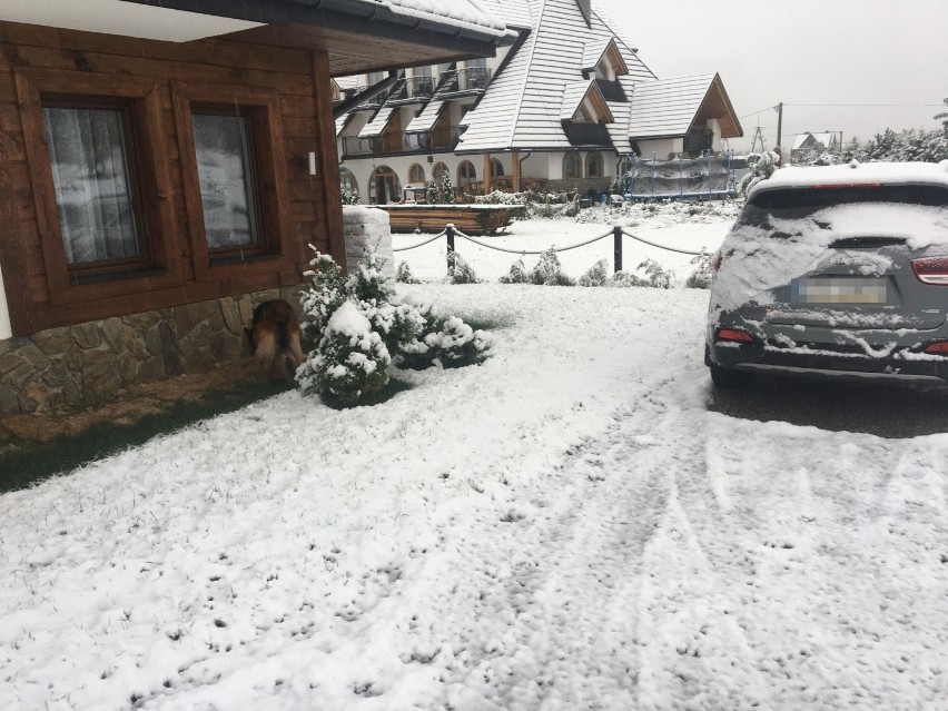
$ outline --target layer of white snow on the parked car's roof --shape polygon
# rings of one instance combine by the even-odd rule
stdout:
[[[948,160],[941,162],[856,162],[843,166],[781,168],[758,182],[748,197],[761,190],[806,188],[814,185],[940,184],[948,186]]]

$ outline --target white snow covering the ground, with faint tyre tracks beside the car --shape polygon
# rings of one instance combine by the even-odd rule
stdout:
[[[0,708],[945,708],[948,435],[708,412],[707,292],[418,288],[493,357],[0,496]]]

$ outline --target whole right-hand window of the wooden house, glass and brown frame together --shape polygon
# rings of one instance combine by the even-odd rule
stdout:
[[[293,269],[277,92],[172,81],[171,98],[196,278]]]

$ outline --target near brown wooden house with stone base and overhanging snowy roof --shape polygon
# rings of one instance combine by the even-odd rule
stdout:
[[[510,41],[474,0],[317,4],[0,4],[0,414],[238,357],[307,244],[345,255],[330,76]]]

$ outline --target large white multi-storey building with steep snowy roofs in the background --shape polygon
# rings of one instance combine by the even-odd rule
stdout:
[[[455,187],[603,189],[631,155],[719,151],[742,129],[715,73],[659,80],[589,0],[485,0],[517,32],[493,58],[339,78],[342,175],[366,203]]]

